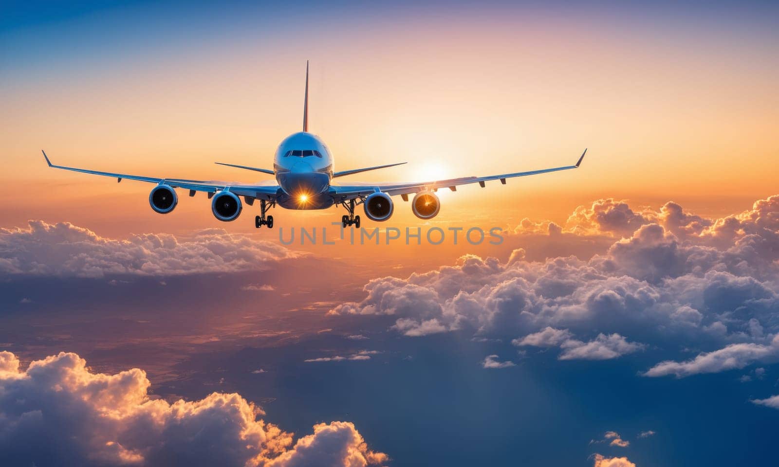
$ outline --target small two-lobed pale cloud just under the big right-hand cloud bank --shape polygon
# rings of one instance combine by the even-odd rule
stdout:
[[[611,360],[618,356],[643,349],[643,344],[627,342],[619,334],[598,334],[594,340],[583,342],[573,339],[568,329],[546,327],[523,338],[513,339],[515,346],[557,347],[563,349],[559,360]]]

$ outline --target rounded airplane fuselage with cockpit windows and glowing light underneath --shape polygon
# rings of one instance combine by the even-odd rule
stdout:
[[[277,203],[287,209],[326,209],[333,179],[333,155],[319,136],[298,132],[287,136],[273,158],[276,181],[283,191]]]

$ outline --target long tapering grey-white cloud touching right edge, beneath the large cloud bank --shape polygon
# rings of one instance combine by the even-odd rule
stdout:
[[[714,352],[700,353],[693,360],[675,362],[666,360],[657,363],[643,375],[649,377],[668,376],[687,377],[700,373],[718,373],[746,367],[750,363],[763,360],[777,360],[779,356],[779,335],[769,345],[738,343],[725,346]]]

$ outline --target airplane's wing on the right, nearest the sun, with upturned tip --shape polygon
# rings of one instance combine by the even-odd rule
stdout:
[[[485,182],[492,180],[499,180],[502,184],[506,184],[507,178],[514,177],[527,177],[527,175],[547,174],[548,172],[557,172],[559,170],[569,170],[578,168],[584,154],[587,153],[587,149],[576,161],[576,164],[564,167],[553,167],[551,169],[530,170],[527,172],[516,172],[513,174],[501,174],[501,175],[489,175],[488,177],[460,177],[449,178],[447,180],[438,181],[423,181],[414,183],[400,183],[400,184],[354,184],[351,186],[332,186],[330,187],[330,195],[336,199],[336,201],[346,201],[349,199],[360,198],[362,196],[370,195],[375,191],[382,191],[390,196],[401,195],[407,198],[407,195],[411,193],[417,193],[418,191],[437,191],[439,188],[449,188],[452,191],[456,191],[456,187],[464,184],[478,183],[481,188],[485,188]]]

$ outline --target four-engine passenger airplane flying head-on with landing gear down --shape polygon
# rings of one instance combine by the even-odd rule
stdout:
[[[587,149],[584,149],[576,164],[551,169],[425,182],[333,184],[333,178],[359,174],[368,170],[395,167],[405,162],[352,170],[334,170],[333,153],[330,152],[323,139],[308,132],[308,61],[306,61],[303,131],[287,136],[279,144],[273,158],[273,169],[217,162],[217,164],[227,167],[236,167],[273,175],[276,178],[277,184],[196,181],[182,178],[142,177],[131,174],[100,172],[55,165],[51,163],[51,160],[49,160],[43,150],[41,152],[44,154],[44,159],[48,166],[56,169],[115,177],[117,181],[122,181],[122,179],[126,178],[127,180],[146,181],[156,184],[157,186],[152,188],[149,194],[149,204],[151,209],[160,214],[167,214],[173,211],[178,204],[178,195],[175,188],[189,190],[189,196],[194,196],[197,191],[205,191],[208,198],[211,199],[213,216],[224,222],[238,219],[243,209],[241,198],[250,206],[254,205],[256,200],[259,200],[260,213],[259,216],[255,217],[255,226],[259,229],[261,226],[273,228],[273,216],[266,214],[269,209],[277,205],[284,209],[326,209],[333,205],[343,206],[347,210],[347,214],[341,216],[341,223],[344,228],[347,226],[360,228],[360,216],[354,215],[354,210],[358,205],[363,205],[365,216],[368,219],[375,222],[383,222],[390,219],[393,215],[393,196],[400,195],[407,202],[408,195],[412,194],[414,198],[411,201],[411,211],[414,212],[414,215],[419,219],[432,219],[438,215],[441,208],[439,197],[435,195],[439,188],[449,188],[451,191],[456,191],[456,188],[460,185],[474,183],[478,183],[481,188],[485,188],[485,182],[487,181],[499,180],[502,184],[506,184],[506,179],[508,178],[576,169],[581,165]]]

